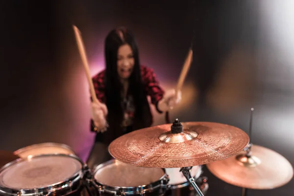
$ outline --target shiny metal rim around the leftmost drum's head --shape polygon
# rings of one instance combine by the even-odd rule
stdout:
[[[66,189],[66,188],[71,188],[75,185],[75,183],[77,183],[80,179],[82,179],[83,177],[83,172],[84,172],[84,166],[85,164],[83,163],[83,161],[76,155],[74,154],[62,154],[62,153],[54,153],[54,154],[41,154],[41,155],[29,155],[26,158],[18,158],[14,161],[11,161],[9,163],[7,163],[6,165],[4,165],[2,168],[0,168],[0,173],[3,172],[4,170],[6,170],[7,168],[9,168],[10,166],[17,164],[17,163],[21,163],[21,162],[25,162],[28,159],[34,159],[34,158],[39,158],[39,157],[47,157],[47,156],[66,156],[66,157],[71,157],[77,161],[80,162],[81,164],[81,169],[78,170],[77,172],[75,172],[70,178],[64,179],[60,182],[56,182],[54,184],[51,185],[47,185],[44,187],[39,187],[39,188],[34,188],[34,189],[14,189],[14,188],[8,188],[8,187],[4,187],[0,184],[0,193],[3,194],[10,194],[13,196],[19,196],[19,194],[21,193],[21,195],[34,195],[37,193],[54,193],[54,192],[58,192],[60,190]],[[66,188],[62,188],[62,186],[66,186]],[[52,191],[54,190],[54,191]]]

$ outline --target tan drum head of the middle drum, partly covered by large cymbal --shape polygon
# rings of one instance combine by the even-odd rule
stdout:
[[[96,168],[94,178],[106,186],[138,187],[156,182],[164,174],[159,168],[141,168],[111,160]]]

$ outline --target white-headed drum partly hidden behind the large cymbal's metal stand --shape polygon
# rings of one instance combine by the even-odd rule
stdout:
[[[166,172],[170,179],[166,196],[198,196],[194,188],[190,185],[190,182],[188,182],[183,173],[180,172],[180,169],[181,168],[166,168]],[[200,181],[202,180],[200,177],[201,174],[202,166],[194,166],[191,169],[191,176],[194,177],[198,187],[202,193],[205,194],[208,185],[202,185],[203,182]],[[201,184],[199,185],[199,183]]]

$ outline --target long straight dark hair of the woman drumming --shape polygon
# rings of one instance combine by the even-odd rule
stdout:
[[[123,108],[121,104],[121,91],[123,89],[117,69],[118,49],[128,44],[134,56],[134,68],[129,77],[128,93],[133,96],[135,113],[133,129],[145,128],[151,125],[152,117],[144,89],[139,51],[133,34],[125,27],[119,27],[109,32],[105,39],[105,97],[108,108],[109,130],[119,137],[123,121]]]

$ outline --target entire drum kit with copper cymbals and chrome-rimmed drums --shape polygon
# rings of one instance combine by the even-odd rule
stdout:
[[[0,195],[204,196],[203,165],[244,188],[243,195],[246,189],[280,187],[293,177],[282,155],[253,146],[243,130],[221,123],[176,119],[125,134],[108,149],[114,159],[93,170],[63,144],[0,151]]]

